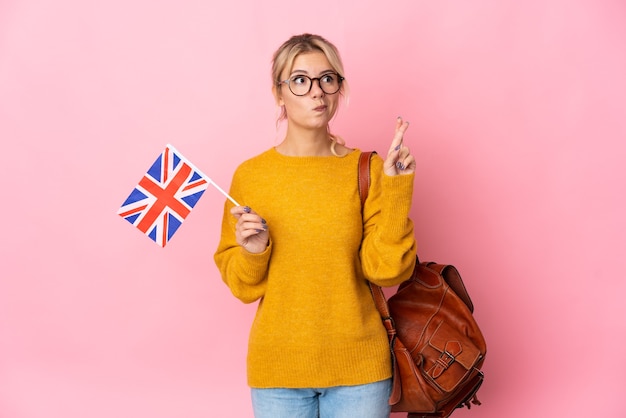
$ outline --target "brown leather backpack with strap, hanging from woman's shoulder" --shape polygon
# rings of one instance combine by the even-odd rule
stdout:
[[[359,160],[362,203],[370,155]],[[388,302],[379,286],[370,288],[392,351],[391,410],[409,412],[408,418],[445,418],[456,408],[480,405],[476,392],[487,347],[457,269],[417,260],[412,277]]]

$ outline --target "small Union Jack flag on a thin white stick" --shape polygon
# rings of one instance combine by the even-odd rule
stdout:
[[[210,183],[168,144],[117,213],[165,247]]]

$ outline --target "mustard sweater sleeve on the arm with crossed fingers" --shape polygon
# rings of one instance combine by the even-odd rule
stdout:
[[[372,157],[370,170],[361,265],[372,283],[394,286],[409,279],[415,267],[417,244],[409,218],[415,175],[386,175],[378,155]]]

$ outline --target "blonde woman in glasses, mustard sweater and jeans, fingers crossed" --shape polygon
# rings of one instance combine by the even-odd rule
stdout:
[[[367,280],[393,286],[413,270],[415,159],[398,118],[384,161],[372,159],[361,213],[360,152],[329,129],[343,75],[320,36],[294,36],[276,51],[285,138],[237,168],[230,194],[246,206],[225,205],[215,262],[237,298],[259,300],[248,346],[257,418],[390,413],[389,343]]]

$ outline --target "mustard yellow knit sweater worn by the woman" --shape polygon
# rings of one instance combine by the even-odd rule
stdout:
[[[387,334],[366,279],[393,286],[413,270],[414,175],[385,175],[375,155],[361,216],[359,155],[288,157],[272,148],[234,174],[231,196],[265,218],[270,232],[266,251],[248,253],[235,241],[226,202],[215,262],[237,298],[260,299],[248,345],[251,387],[391,376]]]

